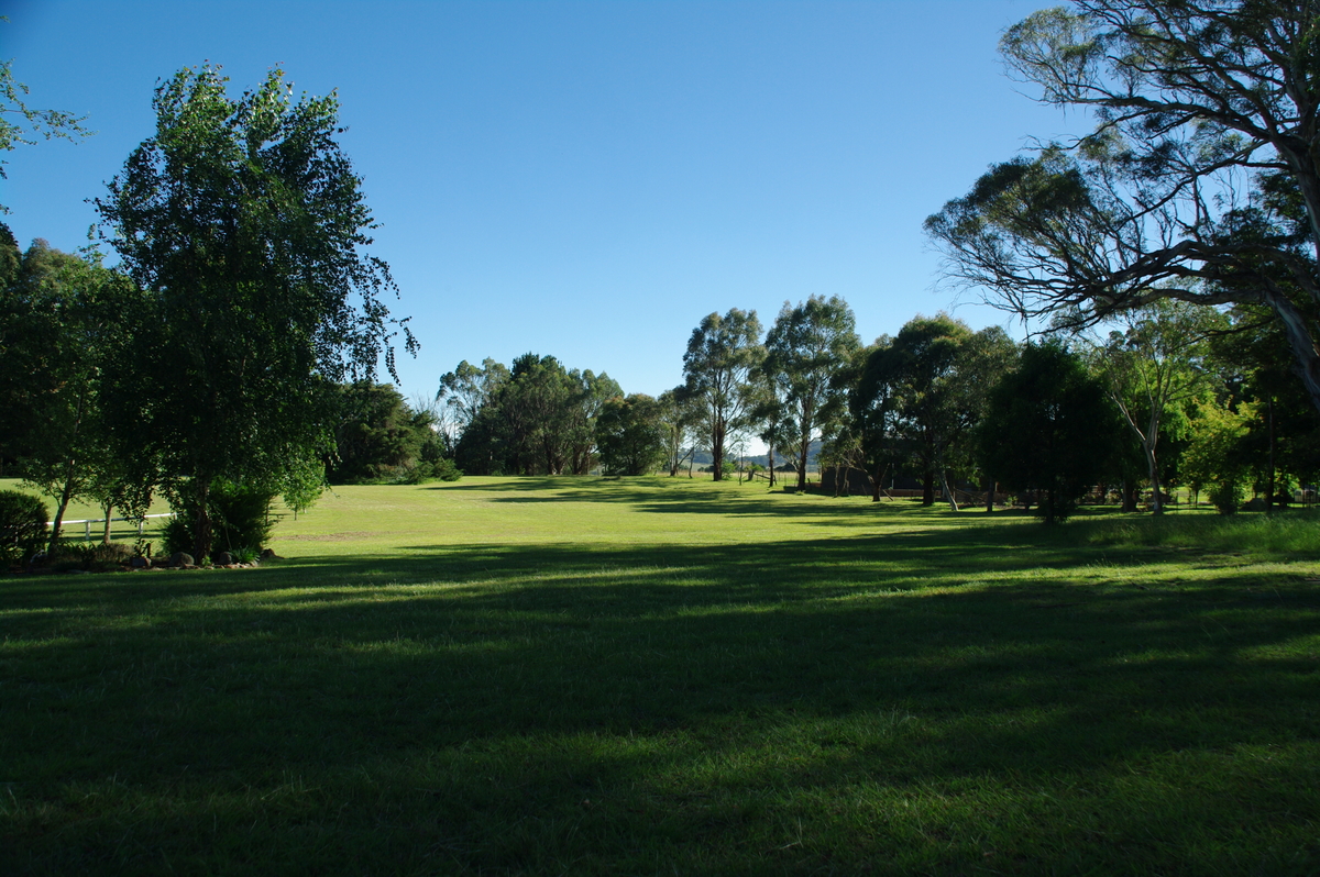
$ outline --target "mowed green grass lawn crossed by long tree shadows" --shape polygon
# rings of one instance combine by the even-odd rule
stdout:
[[[1320,521],[1239,517],[465,479],[8,578],[0,873],[1313,874]]]

